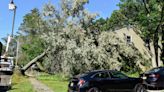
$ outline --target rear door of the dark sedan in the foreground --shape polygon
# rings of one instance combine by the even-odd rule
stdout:
[[[103,90],[103,92],[106,92],[109,88],[109,79],[111,79],[111,77],[108,72],[99,72],[93,76],[92,84]]]

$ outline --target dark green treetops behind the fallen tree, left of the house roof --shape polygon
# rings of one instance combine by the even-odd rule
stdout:
[[[109,18],[97,19],[93,22],[93,25],[91,25],[90,28],[101,31],[115,31],[117,29],[127,27],[130,24],[127,20],[127,17],[122,14],[120,10],[114,10]]]

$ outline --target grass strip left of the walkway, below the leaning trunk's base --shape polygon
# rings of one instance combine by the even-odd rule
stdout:
[[[9,92],[35,92],[27,77],[19,73],[12,76],[12,89]]]

